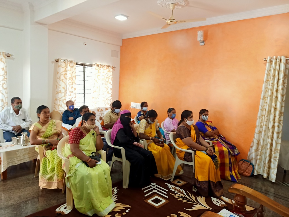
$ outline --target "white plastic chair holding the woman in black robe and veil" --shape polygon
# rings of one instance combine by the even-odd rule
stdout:
[[[123,162],[123,165],[122,165],[122,168],[121,168],[121,170],[123,172],[123,188],[127,188],[128,187],[128,183],[129,183],[130,162],[127,159],[125,159],[125,149],[123,147],[114,146],[114,145],[111,144],[110,135],[111,135],[111,130],[108,130],[108,132],[105,135],[105,139],[106,139],[107,144],[109,146],[111,146],[112,148],[117,148],[117,149],[121,150],[121,158],[115,157],[114,154],[112,155],[112,161],[111,161],[111,164],[110,164],[110,171],[111,171],[111,168],[113,166],[114,161]]]

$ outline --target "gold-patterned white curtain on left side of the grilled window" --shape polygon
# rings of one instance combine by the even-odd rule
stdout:
[[[66,110],[66,101],[76,100],[76,62],[58,59],[54,111]]]

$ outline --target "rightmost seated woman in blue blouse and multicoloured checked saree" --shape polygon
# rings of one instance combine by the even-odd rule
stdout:
[[[219,159],[219,167],[221,179],[237,182],[241,179],[238,173],[237,155],[240,154],[236,146],[226,140],[219,130],[208,121],[209,111],[202,109],[199,113],[199,121],[196,126],[199,128],[200,134],[203,139],[213,142],[214,150]]]

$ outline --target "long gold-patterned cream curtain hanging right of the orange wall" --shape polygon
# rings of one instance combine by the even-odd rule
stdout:
[[[273,59],[273,60],[271,60]],[[289,61],[286,56],[268,57],[255,135],[248,153],[254,174],[275,182]]]

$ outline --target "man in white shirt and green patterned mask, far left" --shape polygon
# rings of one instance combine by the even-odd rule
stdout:
[[[11,99],[11,107],[5,108],[0,113],[0,129],[3,130],[3,137],[6,142],[11,142],[11,137],[21,136],[22,132],[27,132],[27,128],[32,124],[32,119],[27,110],[22,108],[22,100],[19,97]]]

